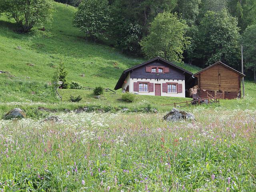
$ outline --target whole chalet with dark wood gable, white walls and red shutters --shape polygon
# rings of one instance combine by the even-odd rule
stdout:
[[[140,95],[185,97],[192,73],[160,57],[124,70],[115,90]]]

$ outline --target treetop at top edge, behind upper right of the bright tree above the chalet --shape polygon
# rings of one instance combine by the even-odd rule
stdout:
[[[189,26],[195,24],[199,14],[199,5],[201,0],[178,0],[174,11],[182,15],[182,19],[186,20]]]

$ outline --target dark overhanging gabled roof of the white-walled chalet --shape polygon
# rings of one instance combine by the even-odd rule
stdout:
[[[123,72],[122,75],[120,76],[120,78],[119,78],[119,80],[118,80],[118,82],[117,82],[117,84],[116,84],[116,86],[115,86],[114,89],[115,89],[115,90],[118,90],[118,89],[122,88],[122,85],[123,85],[123,83],[124,83],[124,80],[126,79],[126,77],[127,77],[127,75],[129,74],[130,71],[132,71],[132,70],[134,70],[134,69],[136,69],[136,68],[138,68],[138,67],[144,66],[144,65],[146,65],[146,64],[148,64],[148,63],[150,63],[150,62],[153,62],[153,61],[155,61],[155,60],[161,60],[162,62],[165,62],[166,64],[169,64],[169,65],[171,65],[171,66],[173,66],[173,67],[175,67],[175,68],[177,68],[177,69],[179,69],[179,70],[182,70],[183,72],[185,72],[185,74],[188,74],[188,75],[190,75],[190,76],[193,75],[192,72],[189,72],[189,71],[187,71],[187,70],[185,70],[185,69],[183,69],[183,68],[181,68],[181,67],[179,67],[179,66],[177,66],[177,65],[175,65],[175,64],[173,64],[173,63],[171,63],[171,62],[169,62],[169,61],[167,61],[167,60],[164,60],[163,58],[155,57],[155,58],[153,58],[153,59],[151,59],[151,60],[148,60],[148,61],[146,61],[146,62],[143,62],[143,63],[141,63],[141,64],[138,64],[138,65],[136,65],[136,66],[133,66],[133,67],[131,67],[131,68],[129,68],[129,69],[124,70],[124,72]]]

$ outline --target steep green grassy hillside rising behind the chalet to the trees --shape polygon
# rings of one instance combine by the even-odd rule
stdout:
[[[75,12],[72,6],[56,3],[53,22],[46,25],[46,31],[35,28],[28,34],[14,32],[14,21],[0,17],[0,70],[10,72],[0,74],[1,86],[5,87],[0,93],[2,101],[52,100],[44,84],[51,81],[60,62],[68,70],[69,82],[113,89],[123,70],[145,61],[125,56],[109,46],[87,42],[72,25]],[[178,65],[192,72],[199,70],[186,64]],[[36,94],[31,96],[31,92]],[[47,96],[42,98],[44,94]]]

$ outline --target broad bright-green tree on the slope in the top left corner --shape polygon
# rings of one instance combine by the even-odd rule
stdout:
[[[20,32],[43,27],[52,20],[54,12],[53,0],[1,0],[0,7],[9,18],[14,18]]]

